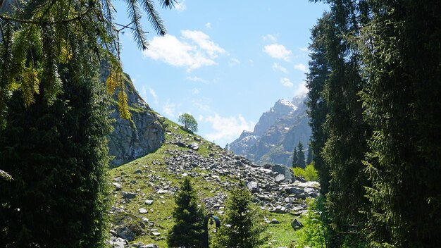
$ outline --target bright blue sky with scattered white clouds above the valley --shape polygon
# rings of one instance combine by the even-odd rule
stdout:
[[[130,23],[122,1],[116,9],[116,22]],[[123,68],[151,109],[175,122],[190,113],[198,135],[225,147],[278,99],[306,94],[311,28],[327,9],[307,0],[178,0],[157,7],[165,36],[142,18],[147,50],[130,30],[120,36]]]

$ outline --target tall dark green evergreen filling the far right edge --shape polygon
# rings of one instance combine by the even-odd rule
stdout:
[[[440,9],[440,1],[373,1],[369,23],[354,37],[373,129],[371,246],[441,246]]]

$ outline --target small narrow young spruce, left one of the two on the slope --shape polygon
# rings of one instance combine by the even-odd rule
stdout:
[[[175,225],[167,237],[168,247],[203,247],[204,209],[198,206],[190,178],[185,177],[175,197]]]

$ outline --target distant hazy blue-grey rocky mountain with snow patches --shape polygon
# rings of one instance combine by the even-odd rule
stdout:
[[[254,163],[291,166],[294,147],[302,142],[307,150],[311,137],[304,101],[305,96],[278,100],[262,114],[253,132],[244,131],[229,144],[230,151]]]

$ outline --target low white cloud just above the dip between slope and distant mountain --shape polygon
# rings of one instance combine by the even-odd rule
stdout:
[[[207,140],[216,141],[218,144],[231,142],[239,137],[243,130],[253,130],[255,123],[247,121],[242,115],[222,117],[217,113],[214,116],[207,116],[204,121],[211,123],[213,132],[205,135]]]

